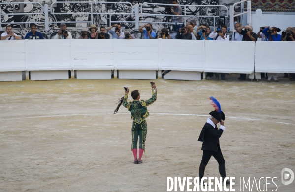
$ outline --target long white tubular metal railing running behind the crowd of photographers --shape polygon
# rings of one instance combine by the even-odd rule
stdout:
[[[242,1],[244,2],[244,1]],[[139,5],[135,4],[134,6],[130,3],[130,2],[93,2],[93,1],[62,1],[62,2],[53,2],[50,7],[45,4],[44,6],[42,6],[41,3],[39,2],[12,2],[12,3],[0,3],[1,5],[13,5],[13,4],[37,4],[38,7],[40,7],[37,11],[39,12],[32,12],[32,13],[2,13],[3,11],[0,10],[0,18],[1,15],[44,15],[44,20],[45,21],[32,21],[32,22],[2,22],[1,23],[1,19],[0,19],[0,30],[2,30],[1,24],[9,24],[9,23],[13,23],[13,24],[30,24],[30,23],[42,23],[45,24],[45,30],[49,30],[49,25],[50,24],[57,24],[57,23],[93,23],[94,22],[94,15],[109,15],[109,22],[111,23],[117,23],[117,22],[121,22],[121,23],[135,23],[135,28],[137,29],[139,27]],[[88,12],[55,12],[55,8],[53,6],[56,6],[57,4],[88,4],[90,5],[89,11]],[[94,6],[96,4],[118,4],[118,5],[127,5],[127,7],[130,7],[130,9],[128,8],[126,12],[121,12],[121,13],[115,13],[115,12],[94,12]],[[235,3],[238,4],[238,3]],[[235,5],[234,4],[234,5]],[[249,3],[248,3],[249,4]],[[228,17],[228,9],[225,5],[177,5],[180,7],[184,7],[184,15],[171,15],[171,14],[157,14],[157,13],[144,13],[143,9],[145,8],[145,5],[156,5],[156,6],[162,6],[162,7],[166,7],[166,6],[175,6],[175,4],[161,4],[161,3],[142,3],[140,9],[140,13],[141,15],[150,15],[150,16],[164,16],[164,17],[184,17],[184,19],[186,20],[187,17],[212,17],[214,19],[214,30],[215,30],[215,18],[219,17],[219,13],[217,13],[217,15],[189,15],[190,11],[187,11],[187,8],[189,7],[220,7],[224,9],[226,11],[226,15],[224,17]],[[251,6],[251,2],[250,2],[250,6]],[[220,11],[219,10],[219,11]],[[49,15],[50,13],[50,15]],[[245,12],[247,13],[247,12]],[[50,19],[49,17],[55,17],[55,15],[90,15],[90,21],[55,21],[54,19]],[[135,18],[135,21],[111,21],[111,16],[112,15],[133,15]],[[173,22],[152,22],[152,21],[140,21],[140,23],[160,23],[160,24],[175,24]],[[181,23],[177,23],[177,24],[182,24]],[[185,22],[186,25],[186,22]]]

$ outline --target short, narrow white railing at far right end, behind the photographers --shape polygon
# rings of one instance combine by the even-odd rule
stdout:
[[[244,2],[247,2],[247,11],[244,12]],[[234,15],[234,6],[241,4],[241,13]],[[229,7],[229,28],[230,31],[232,32],[234,30],[233,26],[233,18],[247,14],[247,24],[251,25],[251,0],[243,0],[237,3],[234,3],[232,6]],[[243,25],[243,24],[242,24]]]

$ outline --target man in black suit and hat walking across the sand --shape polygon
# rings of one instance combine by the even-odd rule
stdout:
[[[203,157],[199,167],[199,179],[201,181],[204,177],[206,165],[208,164],[211,156],[213,156],[219,164],[219,173],[224,181],[226,177],[226,167],[219,145],[219,138],[226,130],[226,127],[224,127],[225,115],[223,112],[218,113],[217,111],[211,111],[209,114],[212,117],[207,119],[207,122],[205,123],[198,138],[198,141],[203,142]],[[220,123],[219,129],[217,128],[218,123]],[[229,184],[229,180],[226,181],[226,184]]]

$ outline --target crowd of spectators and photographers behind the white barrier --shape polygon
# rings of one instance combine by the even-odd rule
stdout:
[[[173,1],[176,2],[177,1]],[[176,6],[177,7],[177,6]],[[171,8],[172,13],[175,14],[179,12],[175,7]],[[177,15],[177,14],[176,14]],[[175,18],[178,19],[177,17]],[[282,34],[278,34],[281,30],[278,27],[265,26],[261,27],[260,30],[255,33],[253,32],[253,27],[251,25],[242,26],[238,22],[234,22],[234,29],[232,36],[227,34],[227,26],[222,25],[217,27],[215,31],[211,31],[210,26],[207,24],[196,25],[195,20],[191,20],[186,24],[186,26],[175,25],[177,29],[176,39],[183,40],[216,40],[216,41],[257,41],[258,38],[261,41],[295,41],[295,27],[288,27]],[[162,28],[158,33],[153,30],[153,25],[147,23],[138,28],[138,31],[143,34],[144,39],[171,39],[170,32],[167,28]],[[92,24],[88,31],[84,30],[81,32],[80,39],[110,39],[112,35],[113,39],[135,39],[133,34],[129,31],[122,32],[121,24],[114,24],[109,26],[107,29],[101,26],[98,31],[98,27]],[[71,39],[72,35],[66,30],[66,24],[60,24],[60,30],[54,36],[53,39]],[[31,24],[31,31],[28,32],[24,39],[44,39],[41,32],[36,31],[36,25]],[[20,40],[20,37],[12,32],[12,27],[10,25],[6,26],[6,32],[1,34],[1,40]],[[227,80],[225,73],[215,73],[216,80],[219,80],[219,75],[221,80]],[[262,78],[266,78],[268,82],[274,79],[275,82],[278,81],[277,73],[261,73]],[[295,80],[295,74],[284,73],[284,78],[289,78],[291,81]],[[213,78],[213,73],[207,73],[206,79],[210,80]],[[240,74],[239,80],[243,81],[246,79],[246,74]]]

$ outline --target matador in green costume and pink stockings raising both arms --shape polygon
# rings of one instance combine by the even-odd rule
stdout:
[[[118,107],[116,108],[115,113],[118,112],[119,107],[123,103],[123,106],[128,109],[131,113],[131,119],[133,120],[131,134],[132,134],[132,144],[131,151],[134,156],[134,164],[141,164],[141,157],[143,152],[145,151],[145,138],[147,134],[147,123],[146,118],[150,115],[147,106],[153,104],[157,99],[157,89],[156,84],[151,82],[152,84],[152,98],[148,100],[139,100],[140,94],[138,90],[133,90],[131,92],[131,96],[133,101],[127,102],[128,99],[128,88],[125,88],[125,95],[118,102]],[[137,159],[137,140],[139,136],[139,158]]]

